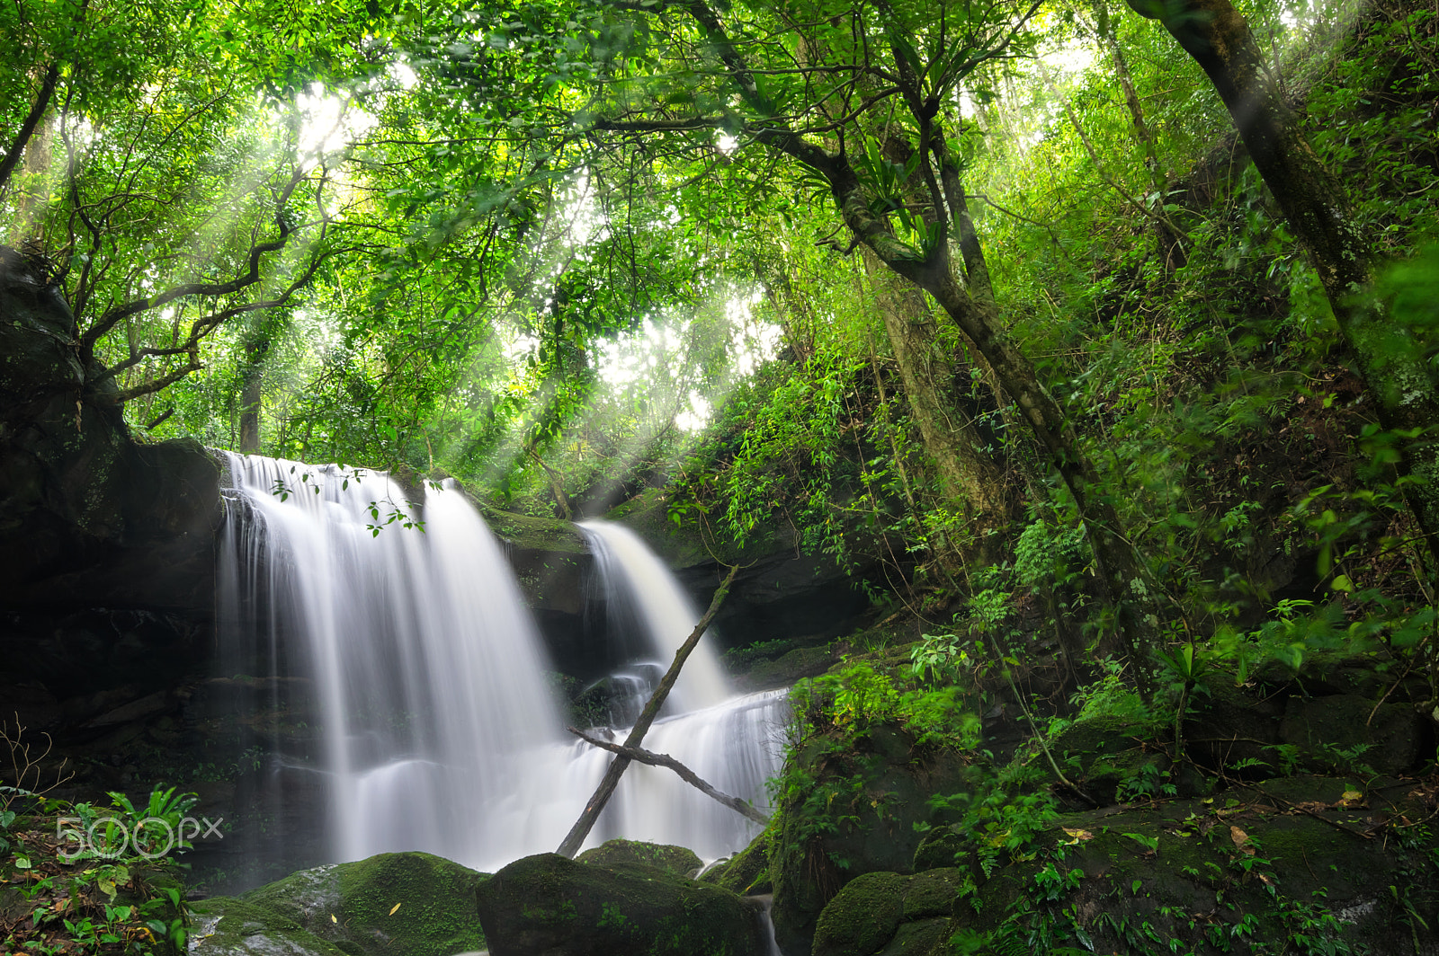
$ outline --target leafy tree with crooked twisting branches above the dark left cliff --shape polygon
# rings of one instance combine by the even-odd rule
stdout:
[[[79,348],[106,367],[91,388],[121,403],[167,388],[219,329],[292,303],[364,246],[344,242],[345,201],[324,147],[302,142],[298,99],[309,78],[373,66],[363,45],[342,53],[393,13],[371,7],[276,35],[263,9],[206,0],[6,4],[7,65],[27,82],[0,96],[0,210],[60,263]]]

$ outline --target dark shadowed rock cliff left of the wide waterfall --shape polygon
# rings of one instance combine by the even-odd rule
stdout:
[[[76,339],[43,266],[0,247],[0,700],[104,746],[177,710],[207,644],[219,467],[134,440]]]

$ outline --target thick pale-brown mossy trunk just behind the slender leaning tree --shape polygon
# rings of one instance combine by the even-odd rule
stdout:
[[[1004,473],[984,451],[974,423],[944,401],[954,367],[935,345],[930,303],[922,292],[899,280],[868,250],[865,267],[899,365],[909,411],[920,427],[924,450],[940,472],[945,497],[987,516],[983,522],[989,526],[1002,525],[1009,518]]]

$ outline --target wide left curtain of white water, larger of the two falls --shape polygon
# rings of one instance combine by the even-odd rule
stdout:
[[[475,509],[430,487],[422,532],[383,525],[412,507],[384,474],[233,454],[229,466],[227,551],[240,559],[229,581],[222,566],[222,627],[242,633],[222,641],[312,683],[334,855],[528,851],[512,821],[476,809],[505,798],[561,720],[540,637]]]

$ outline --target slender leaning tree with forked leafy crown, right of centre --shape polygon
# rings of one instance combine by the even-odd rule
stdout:
[[[823,190],[852,244],[932,296],[1014,401],[1078,506],[1101,588],[1120,610],[1122,645],[1144,661],[1145,587],[1098,472],[951,242],[958,237],[961,257],[977,249],[964,242],[955,92],[980,66],[1022,55],[1039,4],[734,4],[724,16],[701,0],[614,9],[632,17],[633,42],[625,68],[581,114],[591,138],[637,154],[684,150],[711,170],[722,162],[718,138],[731,137],[740,154],[728,181],[750,174],[748,190],[773,194],[761,171],[778,165]],[[662,91],[675,76],[685,89]],[[904,165],[885,154],[884,129],[908,141]],[[751,148],[766,158],[748,158]],[[911,180],[924,184],[918,203]]]

